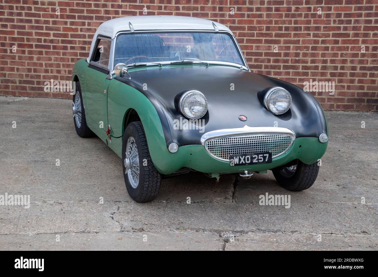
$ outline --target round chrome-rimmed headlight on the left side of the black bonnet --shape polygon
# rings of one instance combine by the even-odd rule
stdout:
[[[198,119],[208,111],[208,101],[198,90],[189,90],[180,98],[180,112],[189,119]]]

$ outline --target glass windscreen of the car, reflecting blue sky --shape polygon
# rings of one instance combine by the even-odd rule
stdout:
[[[243,65],[234,41],[225,33],[121,34],[116,40],[114,64],[183,59]]]

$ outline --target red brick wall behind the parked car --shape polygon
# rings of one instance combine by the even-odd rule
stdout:
[[[334,81],[335,95],[313,92],[326,110],[378,109],[378,0],[0,2],[0,95],[70,97],[45,92],[44,82],[70,80],[73,63],[87,57],[102,22],[143,16],[146,8],[149,15],[194,16],[225,24],[253,72],[300,87],[310,79]]]

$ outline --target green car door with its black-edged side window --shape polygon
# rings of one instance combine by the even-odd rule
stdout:
[[[107,76],[109,74],[109,57],[112,40],[107,37],[98,37],[88,65],[87,79],[87,107],[88,115],[100,129],[107,130]],[[86,114],[87,115],[87,114]],[[88,117],[87,115],[87,117]]]

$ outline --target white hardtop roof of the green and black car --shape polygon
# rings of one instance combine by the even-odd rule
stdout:
[[[208,19],[189,16],[127,16],[111,19],[102,23],[97,34],[111,37],[118,32],[130,31],[130,25],[135,31],[150,30],[215,30],[213,23],[219,31],[229,31],[225,25]]]

